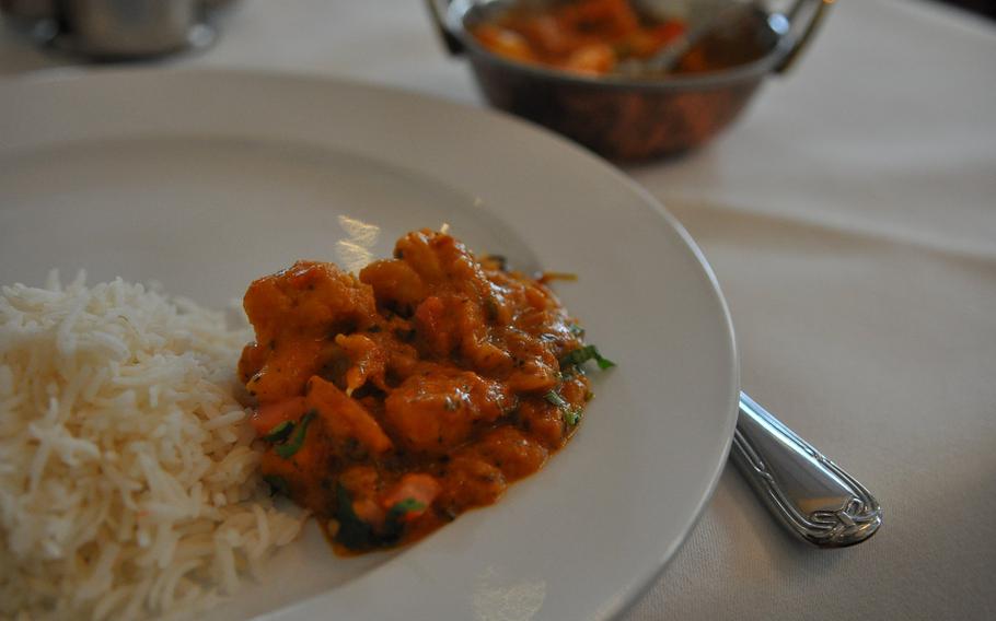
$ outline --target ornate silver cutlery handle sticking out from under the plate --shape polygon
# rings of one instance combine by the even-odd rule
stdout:
[[[861,483],[746,392],[730,456],[772,513],[810,543],[853,546],[882,524],[881,506]]]

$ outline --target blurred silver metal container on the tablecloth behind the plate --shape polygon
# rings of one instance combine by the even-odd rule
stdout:
[[[0,0],[4,21],[37,44],[96,60],[204,48],[231,0]]]

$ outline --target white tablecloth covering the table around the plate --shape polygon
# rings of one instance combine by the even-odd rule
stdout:
[[[483,105],[420,2],[243,0],[222,26],[213,48],[167,63]],[[0,77],[66,63],[0,34]],[[916,0],[839,2],[719,140],[625,169],[716,270],[744,388],[871,488],[887,522],[856,548],[811,549],[728,468],[624,618],[996,619],[993,24]]]

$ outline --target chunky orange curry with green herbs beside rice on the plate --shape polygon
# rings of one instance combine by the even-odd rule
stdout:
[[[583,363],[612,365],[546,285],[449,235],[409,233],[394,257],[359,278],[298,261],[245,294],[263,476],[339,553],[496,502],[577,429]]]

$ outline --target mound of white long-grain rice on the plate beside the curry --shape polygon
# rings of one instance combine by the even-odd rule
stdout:
[[[0,618],[196,614],[298,536],[232,396],[250,337],[120,279],[0,289]]]

